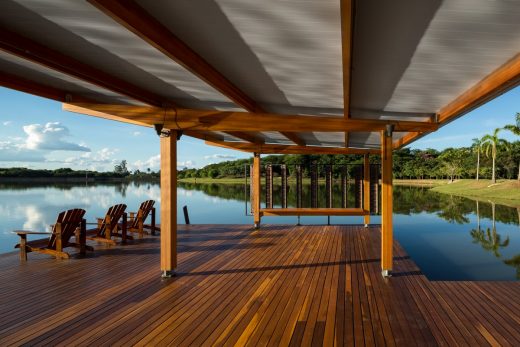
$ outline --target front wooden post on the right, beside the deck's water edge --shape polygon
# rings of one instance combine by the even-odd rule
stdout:
[[[392,273],[392,129],[381,132],[381,270],[383,277]]]

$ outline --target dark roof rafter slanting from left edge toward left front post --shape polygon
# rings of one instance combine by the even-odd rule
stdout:
[[[161,106],[164,101],[147,90],[1,27],[0,50],[150,105]]]

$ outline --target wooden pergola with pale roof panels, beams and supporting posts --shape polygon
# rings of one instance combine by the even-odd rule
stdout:
[[[258,212],[260,154],[379,154],[387,275],[392,150],[518,84],[518,18],[488,0],[4,0],[0,84],[162,132],[166,276],[181,134],[254,153]]]

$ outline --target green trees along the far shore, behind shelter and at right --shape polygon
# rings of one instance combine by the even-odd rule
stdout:
[[[520,180],[520,141],[508,142],[502,139],[503,131],[520,135],[520,113],[516,114],[516,124],[495,129],[479,139],[473,139],[469,147],[435,149],[403,148],[394,151],[393,172],[395,178],[402,179],[459,179],[459,178],[496,178]],[[289,174],[294,165],[302,165],[304,176],[308,176],[311,165],[356,165],[363,163],[360,155],[269,155],[262,158],[263,163],[285,164]],[[372,156],[370,162],[379,162]],[[200,169],[185,168],[178,173],[179,178],[240,178],[247,174],[251,159],[240,159],[210,164]],[[276,170],[275,170],[276,174]]]

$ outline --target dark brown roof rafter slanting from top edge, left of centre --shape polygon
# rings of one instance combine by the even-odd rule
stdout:
[[[185,67],[188,71],[204,80],[210,86],[221,92],[237,105],[254,113],[262,113],[265,110],[240,88],[234,85],[222,73],[209,64],[197,52],[192,50],[180,38],[174,35],[168,28],[146,12],[133,0],[88,0],[103,13],[123,25],[128,30],[148,42],[170,59]],[[298,135],[288,132],[280,132],[289,140],[298,145],[305,145],[305,141]],[[232,134],[230,134],[232,135]],[[233,135],[235,136],[235,135]],[[242,139],[247,138],[236,136]],[[262,139],[253,138],[251,142]]]

